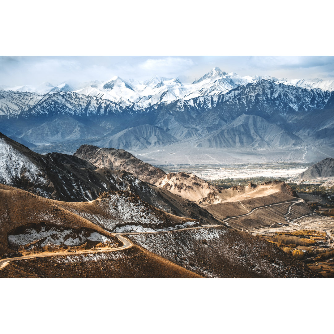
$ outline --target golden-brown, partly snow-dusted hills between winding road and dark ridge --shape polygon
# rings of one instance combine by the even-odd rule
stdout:
[[[0,256],[95,244],[118,245],[111,232],[200,226],[126,191],[106,192],[90,202],[62,202],[0,184]],[[98,241],[98,242],[97,242]]]

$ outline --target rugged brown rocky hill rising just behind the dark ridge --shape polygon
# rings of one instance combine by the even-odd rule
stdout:
[[[161,169],[143,162],[131,153],[121,149],[81,145],[74,153],[74,156],[85,159],[99,168],[125,170],[140,180],[152,184],[166,175]]]

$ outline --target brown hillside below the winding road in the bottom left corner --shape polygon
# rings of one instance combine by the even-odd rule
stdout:
[[[13,261],[0,278],[203,278],[137,245],[117,252]]]

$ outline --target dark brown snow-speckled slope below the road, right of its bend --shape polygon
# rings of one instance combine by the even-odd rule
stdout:
[[[140,246],[207,278],[315,278],[276,245],[220,228],[130,235]],[[161,244],[168,245],[161,247]]]

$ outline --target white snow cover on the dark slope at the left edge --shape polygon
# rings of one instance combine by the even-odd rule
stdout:
[[[34,184],[45,184],[41,177],[41,171],[25,155],[9,145],[0,138],[0,183],[13,185],[13,179],[24,177],[30,179]]]

